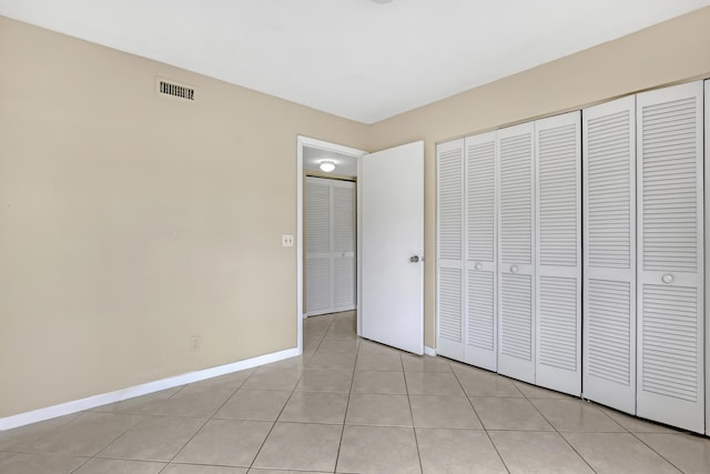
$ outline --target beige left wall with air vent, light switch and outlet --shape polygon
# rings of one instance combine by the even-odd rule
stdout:
[[[296,345],[296,135],[366,125],[1,17],[0,70],[0,417]]]

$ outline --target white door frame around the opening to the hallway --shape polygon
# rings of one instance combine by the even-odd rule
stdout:
[[[323,140],[317,140],[304,135],[296,135],[296,324],[298,331],[298,340],[297,340],[297,349],[298,354],[303,354],[303,184],[304,184],[304,175],[303,175],[303,151],[304,148],[315,148],[318,150],[333,151],[339,154],[346,154],[353,157],[353,159],[358,160],[361,157],[367,154],[364,150],[358,150],[351,147],[345,147],[337,143],[326,142]],[[359,163],[359,160],[358,160]],[[358,172],[359,175],[359,167]],[[357,210],[357,220],[359,222],[359,209]],[[358,231],[359,232],[359,231]],[[358,245],[359,245],[359,235],[356,236]],[[359,252],[357,255],[357,264],[356,264],[356,278],[355,281],[357,284],[357,304],[359,305]],[[358,324],[357,331],[359,333],[359,315],[358,315]]]

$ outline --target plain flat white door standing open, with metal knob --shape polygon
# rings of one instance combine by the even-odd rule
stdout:
[[[424,142],[358,167],[361,335],[424,352]]]

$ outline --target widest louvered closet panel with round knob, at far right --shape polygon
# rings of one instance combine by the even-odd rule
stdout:
[[[704,432],[702,83],[637,95],[639,416]]]

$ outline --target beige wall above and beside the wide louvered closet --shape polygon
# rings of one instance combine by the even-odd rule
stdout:
[[[426,345],[436,345],[436,142],[643,89],[708,78],[709,26],[710,8],[704,8],[373,127],[371,150],[425,141]]]

